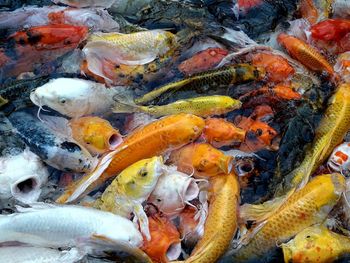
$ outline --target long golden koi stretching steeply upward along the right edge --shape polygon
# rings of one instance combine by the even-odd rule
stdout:
[[[327,160],[335,146],[343,141],[350,127],[350,84],[342,84],[329,99],[329,105],[316,128],[312,147],[306,151],[299,167],[285,178],[283,189],[277,195],[286,193],[294,187],[302,187],[313,172]]]

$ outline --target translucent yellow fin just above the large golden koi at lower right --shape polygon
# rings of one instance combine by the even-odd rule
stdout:
[[[272,216],[288,198],[294,193],[295,189],[290,190],[286,195],[275,197],[259,205],[244,204],[239,208],[239,215],[243,222],[255,221],[262,222]]]

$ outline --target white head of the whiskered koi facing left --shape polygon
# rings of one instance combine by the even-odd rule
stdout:
[[[30,94],[31,101],[47,106],[68,117],[79,117],[88,112],[91,86],[79,79],[58,78],[38,87]]]

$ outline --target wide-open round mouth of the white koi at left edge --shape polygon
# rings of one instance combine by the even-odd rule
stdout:
[[[26,204],[37,201],[40,193],[40,181],[35,175],[21,178],[11,186],[12,196]]]

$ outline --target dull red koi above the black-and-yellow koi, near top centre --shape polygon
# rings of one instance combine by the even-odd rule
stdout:
[[[228,51],[222,48],[208,48],[183,61],[178,69],[186,75],[207,71],[217,66],[227,54]]]

